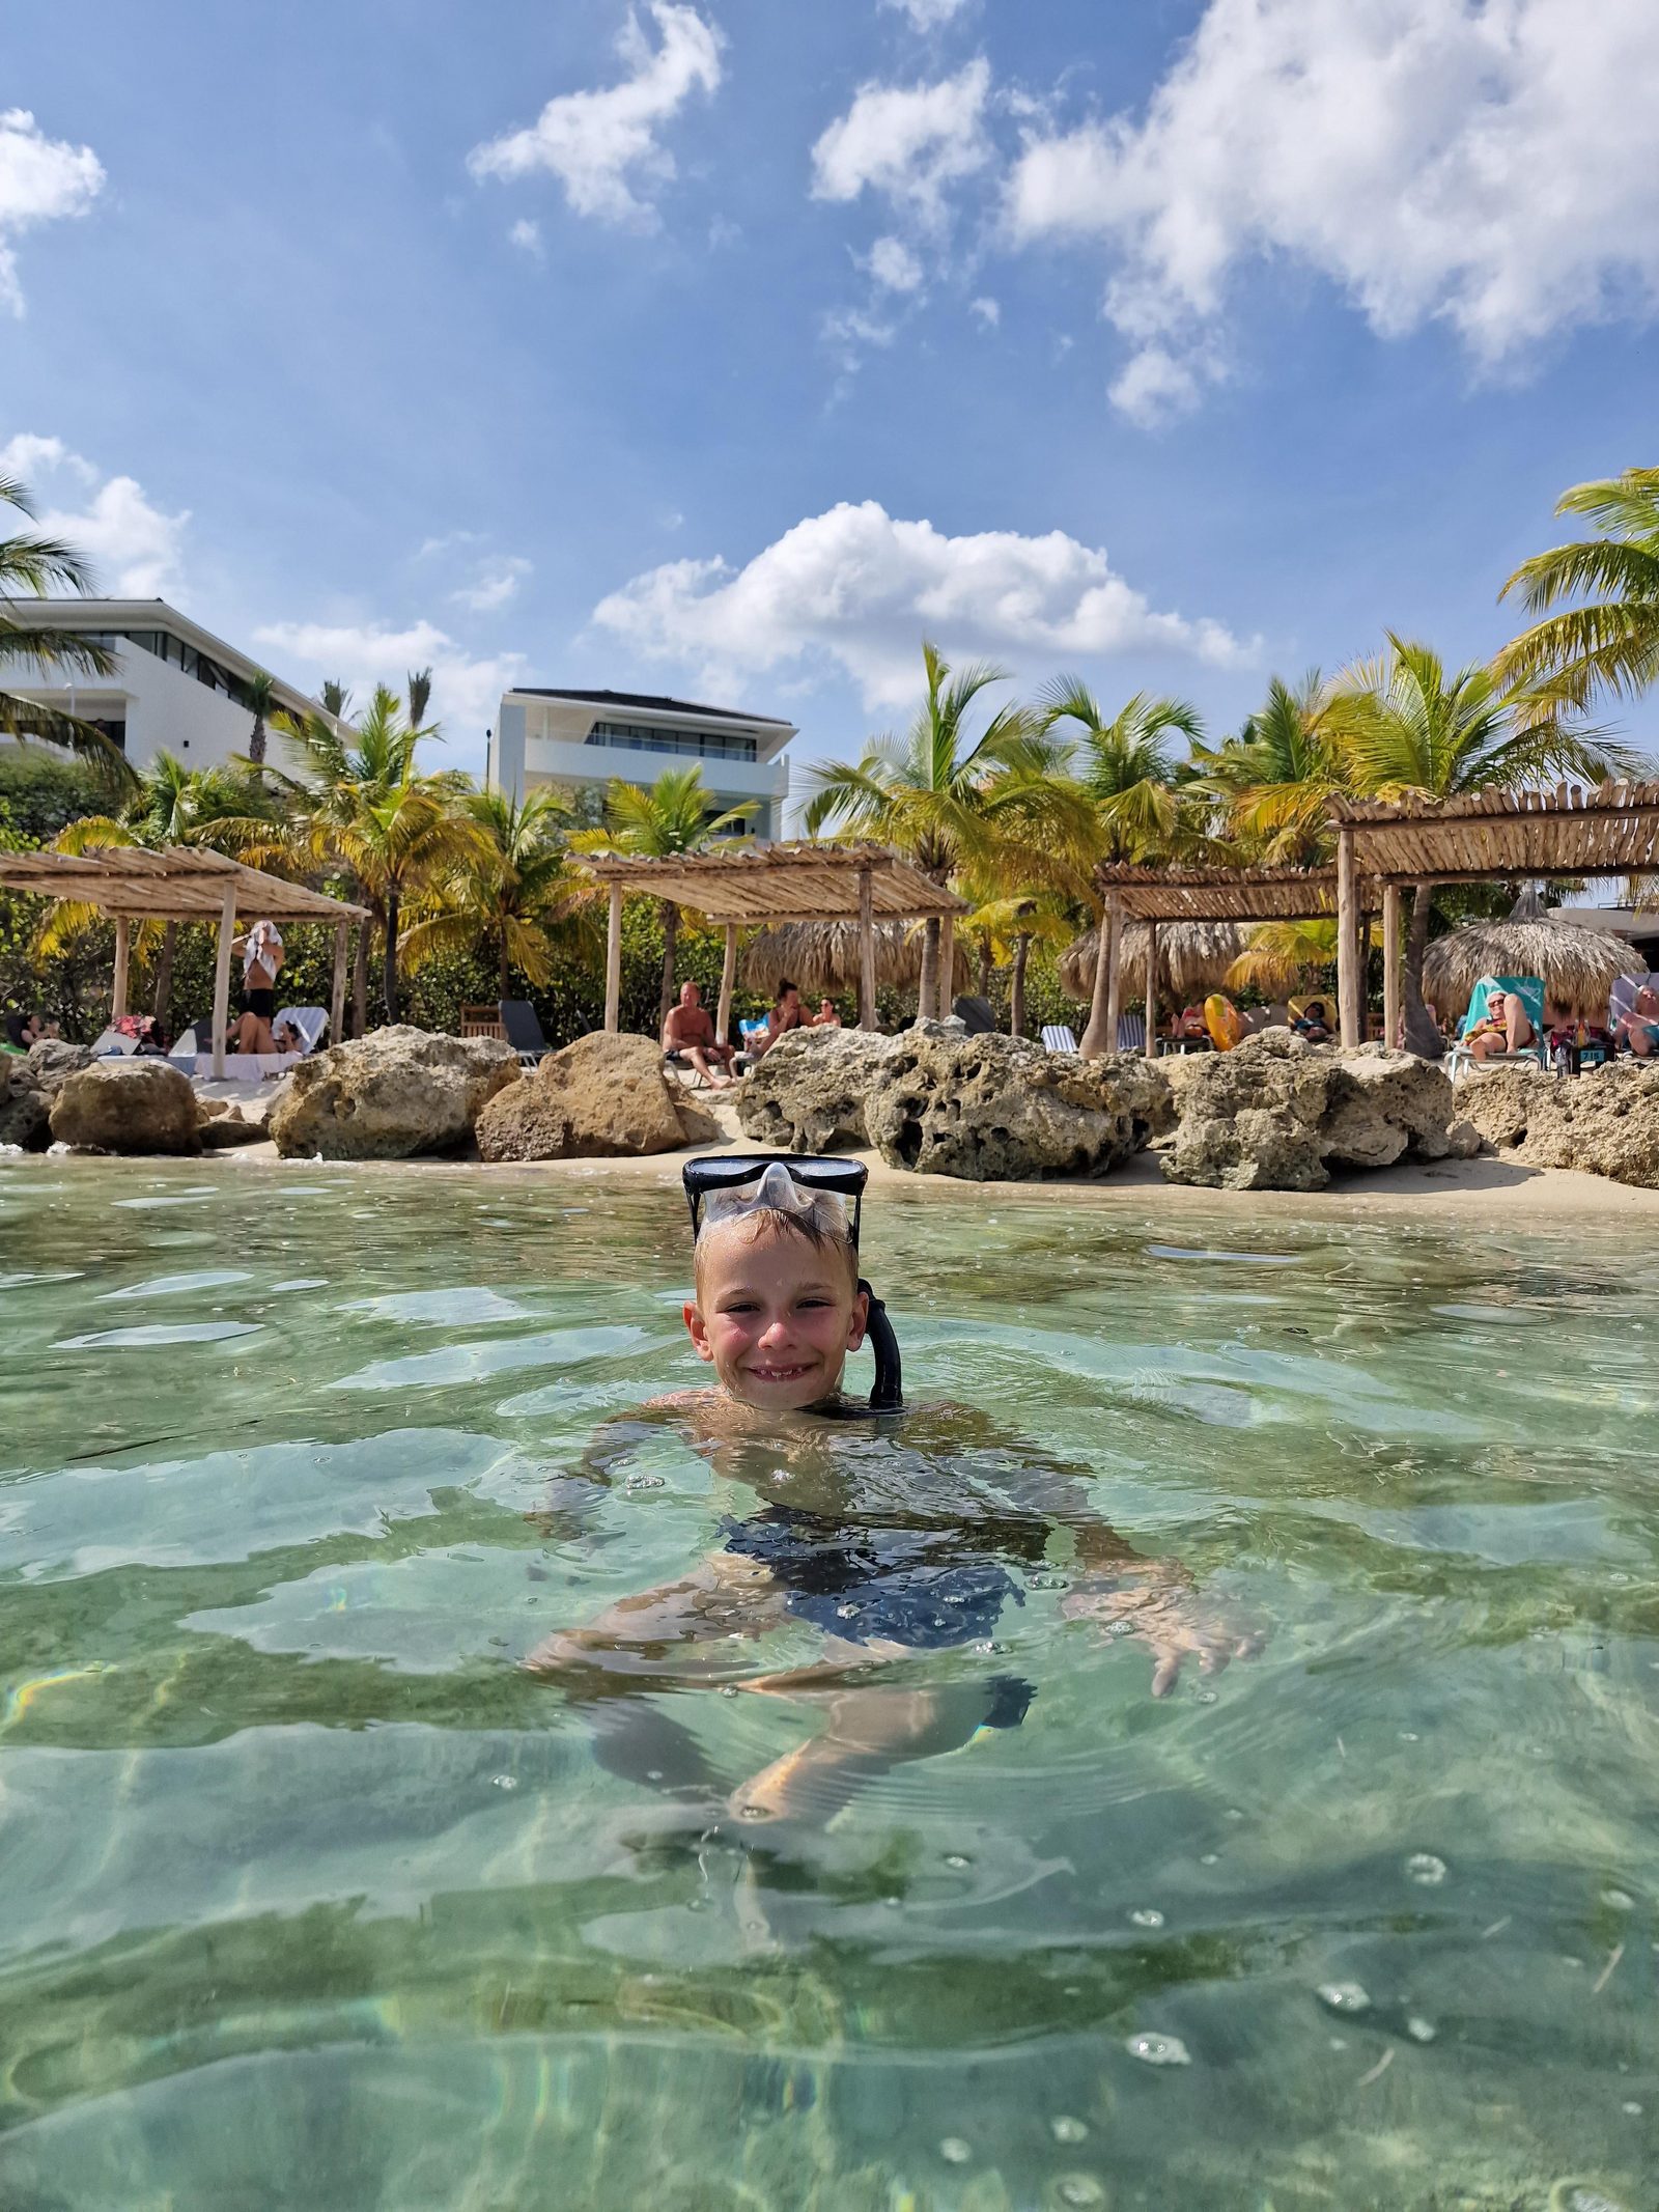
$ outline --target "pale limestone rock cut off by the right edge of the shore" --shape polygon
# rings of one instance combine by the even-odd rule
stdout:
[[[1659,1068],[1615,1060],[1577,1077],[1542,1068],[1473,1071],[1458,1106],[1480,1135],[1535,1168],[1579,1168],[1659,1190]]]

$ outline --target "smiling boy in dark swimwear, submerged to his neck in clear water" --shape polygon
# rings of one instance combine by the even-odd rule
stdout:
[[[628,1701],[630,1717],[615,1712],[615,1692],[653,1677],[719,1679],[732,1641],[790,1619],[823,1632],[816,1661],[741,1670],[732,1686],[816,1703],[825,1728],[734,1792],[743,1818],[845,1796],[898,1761],[956,1750],[980,1728],[1018,1728],[1033,1697],[1018,1674],[916,1688],[880,1672],[925,1650],[989,1648],[1002,1606],[1024,1604],[1011,1566],[1040,1568],[1055,1531],[1073,1546],[1062,1610],[1146,1641],[1155,1697],[1175,1688],[1186,1657],[1210,1672],[1250,1648],[1192,1608],[1177,1564],[1135,1555],[1093,1513],[1073,1471],[1011,1451],[980,1416],[933,1407],[898,1427],[845,1420],[860,1411],[841,1396],[841,1378],[865,1340],[869,1294],[843,1201],[799,1183],[787,1166],[774,1161],[752,1186],[710,1197],[684,1318],[714,1387],[608,1422],[584,1475],[608,1482],[619,1460],[672,1422],[763,1506],[726,1517],[723,1548],[690,1575],[624,1597],[529,1661],[591,1705],[602,1754],[624,1772],[650,1759],[650,1774],[670,1765],[684,1774],[666,1741],[677,1736],[681,1754],[686,1743],[639,1699]],[[619,1736],[641,1728],[655,1743],[624,1750]]]

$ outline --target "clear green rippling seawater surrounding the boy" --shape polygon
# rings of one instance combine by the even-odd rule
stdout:
[[[560,1504],[695,1380],[670,1194],[0,1166],[7,2212],[1655,2203],[1648,1245],[929,1192],[867,1256],[914,1398],[1265,1641],[1152,1701],[1057,1533],[898,1677],[1022,1725],[745,1829],[805,1624],[606,1703],[695,1785],[522,1666],[745,1511],[675,1436]]]

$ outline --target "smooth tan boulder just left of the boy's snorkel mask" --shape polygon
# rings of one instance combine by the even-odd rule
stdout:
[[[712,1124],[710,1137],[688,1135],[677,1091],[659,1044],[595,1029],[489,1102],[478,1117],[478,1150],[491,1161],[641,1159],[717,1141]]]

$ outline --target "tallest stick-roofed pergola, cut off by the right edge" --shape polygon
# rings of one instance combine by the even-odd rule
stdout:
[[[1358,1044],[1365,1015],[1363,883],[1380,887],[1383,1020],[1385,1033],[1394,1037],[1400,1011],[1400,891],[1407,885],[1544,883],[1659,869],[1659,783],[1473,792],[1440,805],[1416,799],[1402,805],[1338,799],[1332,823],[1343,1044]]]

